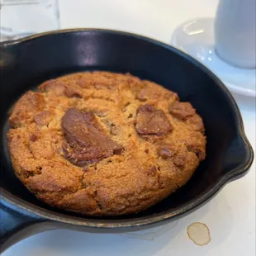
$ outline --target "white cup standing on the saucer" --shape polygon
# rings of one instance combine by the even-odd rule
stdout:
[[[216,53],[241,68],[256,67],[256,0],[220,0],[216,12]]]

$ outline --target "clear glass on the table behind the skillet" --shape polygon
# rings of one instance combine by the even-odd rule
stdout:
[[[58,0],[0,0],[0,41],[59,28]]]

